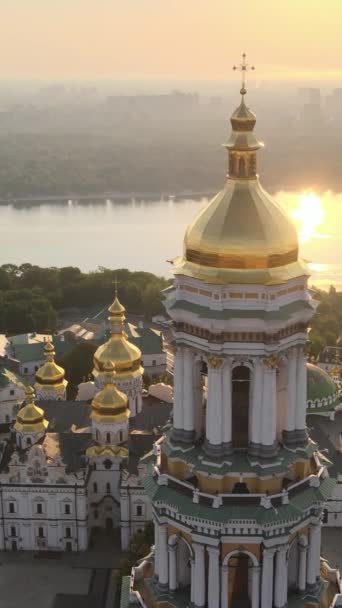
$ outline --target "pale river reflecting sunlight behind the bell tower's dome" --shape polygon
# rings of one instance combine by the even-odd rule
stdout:
[[[312,282],[342,288],[342,194],[280,192],[297,225]],[[1,206],[0,264],[99,266],[169,276],[182,252],[186,226],[207,199]]]

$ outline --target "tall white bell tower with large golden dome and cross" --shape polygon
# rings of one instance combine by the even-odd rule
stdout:
[[[295,228],[259,182],[245,96],[243,78],[226,183],[188,227],[165,292],[173,422],[144,459],[154,606],[323,601],[321,514],[334,482],[305,422],[314,306]]]

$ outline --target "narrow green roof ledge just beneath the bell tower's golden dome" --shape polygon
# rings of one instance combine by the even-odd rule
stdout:
[[[296,312],[300,312],[304,309],[312,310],[312,306],[306,300],[296,300],[291,304],[281,306],[278,310],[261,310],[261,309],[248,309],[241,310],[236,308],[225,308],[223,310],[215,310],[206,306],[200,306],[187,300],[176,300],[170,305],[170,309],[181,309],[197,314],[199,317],[205,319],[264,319],[265,321],[278,321],[286,320]]]

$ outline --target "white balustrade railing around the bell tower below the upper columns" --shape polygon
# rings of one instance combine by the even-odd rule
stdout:
[[[306,487],[319,487],[321,477],[327,475],[326,467],[321,467],[317,475],[309,475],[300,481],[297,481],[284,488],[277,494],[238,494],[238,493],[217,493],[209,494],[201,492],[193,484],[173,477],[168,473],[161,473],[157,465],[154,465],[154,476],[157,479],[157,484],[160,486],[168,486],[177,490],[181,494],[192,499],[195,504],[206,504],[214,509],[218,509],[222,505],[255,505],[261,506],[264,509],[277,508],[289,503],[290,499],[295,496],[299,490]]]

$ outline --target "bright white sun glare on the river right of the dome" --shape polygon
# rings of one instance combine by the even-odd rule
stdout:
[[[322,201],[314,192],[304,192],[299,196],[299,204],[292,211],[299,230],[299,240],[306,243],[317,233],[324,218]]]

